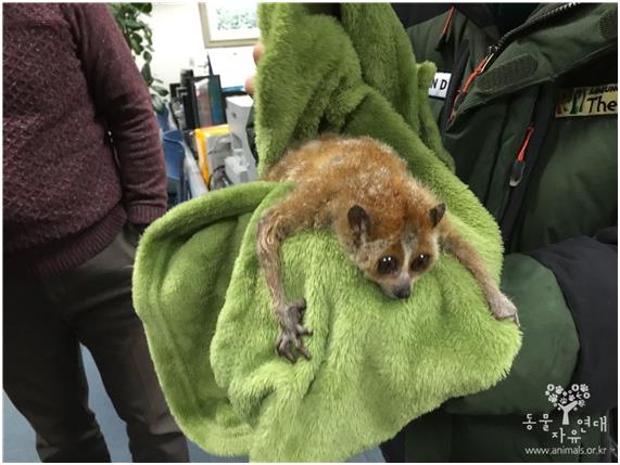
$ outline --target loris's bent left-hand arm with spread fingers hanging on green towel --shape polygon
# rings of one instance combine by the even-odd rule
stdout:
[[[265,272],[267,287],[271,294],[274,312],[280,324],[280,334],[276,343],[279,354],[284,356],[292,363],[296,361],[292,352],[291,344],[306,359],[311,353],[303,345],[302,336],[311,335],[312,332],[301,324],[303,312],[306,308],[305,299],[287,302],[284,287],[280,279],[280,245],[294,230],[301,229],[299,211],[294,214],[287,208],[290,202],[284,202],[266,214],[258,223],[257,253],[258,260]]]

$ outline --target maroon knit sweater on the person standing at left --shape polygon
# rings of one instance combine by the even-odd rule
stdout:
[[[48,276],[165,212],[164,156],[105,5],[2,10],[4,272]]]

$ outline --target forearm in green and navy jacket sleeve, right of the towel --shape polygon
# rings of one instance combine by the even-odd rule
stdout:
[[[519,309],[523,343],[508,377],[453,399],[452,413],[521,414],[552,409],[548,384],[589,387],[584,412],[617,405],[618,228],[535,251],[509,254],[502,290]]]

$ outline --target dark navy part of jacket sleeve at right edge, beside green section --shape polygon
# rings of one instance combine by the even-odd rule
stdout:
[[[587,406],[617,405],[618,227],[573,237],[529,254],[553,271],[579,333],[571,384],[591,390]]]

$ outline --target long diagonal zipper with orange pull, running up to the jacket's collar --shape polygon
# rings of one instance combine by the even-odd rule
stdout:
[[[577,7],[581,7],[581,3],[565,3],[557,8],[554,8],[553,10],[546,13],[533,17],[528,23],[524,23],[509,30],[504,36],[502,36],[495,44],[488,47],[486,54],[484,55],[484,57],[480,61],[480,63],[476,66],[473,72],[469,75],[467,81],[465,82],[465,86],[463,86],[463,88],[457,91],[456,98],[454,99],[454,102],[452,104],[452,111],[450,113],[448,122],[452,122],[452,120],[454,119],[456,109],[458,108],[458,105],[460,105],[460,102],[467,94],[467,91],[471,87],[473,80],[489,68],[489,66],[497,59],[497,56],[504,51],[504,49],[506,49],[509,42],[515,40],[515,38],[520,34],[522,34],[524,30],[531,29],[532,27],[537,26],[541,23],[548,21],[549,18],[555,17],[559,14],[564,14],[567,11],[572,10]]]

